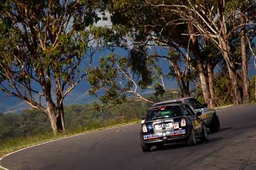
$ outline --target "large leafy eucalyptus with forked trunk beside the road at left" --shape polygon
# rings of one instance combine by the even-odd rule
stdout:
[[[0,90],[47,114],[65,132],[63,100],[88,74],[97,50],[92,1],[0,4]]]

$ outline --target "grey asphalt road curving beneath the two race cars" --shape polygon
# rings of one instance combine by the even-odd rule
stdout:
[[[143,153],[140,124],[61,139],[13,153],[8,169],[256,169],[256,104],[218,110],[209,143],[167,145]]]

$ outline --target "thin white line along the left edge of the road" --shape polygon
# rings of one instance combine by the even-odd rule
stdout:
[[[72,136],[66,136],[66,137],[64,137],[64,138],[54,139],[54,140],[52,140],[52,141],[47,141],[47,142],[44,142],[44,143],[38,143],[38,144],[36,144],[36,145],[28,146],[28,147],[26,147],[26,148],[22,148],[22,149],[20,149],[20,150],[16,150],[16,151],[14,151],[14,152],[8,153],[8,154],[5,155],[4,157],[0,158],[0,161],[3,160],[5,157],[8,157],[8,156],[12,155],[13,153],[17,153],[17,152],[20,152],[20,151],[22,151],[22,150],[26,150],[26,149],[28,149],[28,148],[33,148],[33,147],[35,147],[35,146],[44,145],[44,144],[46,144],[46,143],[51,143],[51,142],[54,142],[54,141],[60,141],[61,139],[67,139],[67,138],[72,138],[72,137],[76,137],[76,136],[81,136],[81,135],[83,135],[83,134],[90,134],[90,133],[93,133],[93,132],[100,132],[100,131],[108,131],[108,130],[115,129],[115,128],[118,128],[118,127],[125,127],[125,126],[135,125],[135,124],[139,124],[139,123],[136,122],[136,123],[126,124],[126,125],[121,125],[121,126],[116,126],[116,127],[109,127],[108,129],[101,129],[101,130],[99,130],[99,131],[83,132],[83,133],[81,133],[81,134],[74,134],[74,135],[72,135]],[[1,165],[0,165],[0,167],[1,167]],[[3,169],[4,169],[4,168],[3,168]],[[9,169],[6,169],[6,168],[5,168],[4,170],[9,170]]]

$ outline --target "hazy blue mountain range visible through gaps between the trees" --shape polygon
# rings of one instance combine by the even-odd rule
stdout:
[[[129,52],[127,50],[124,50],[123,48],[116,48],[113,52],[111,50],[101,50],[97,53],[95,53],[93,57],[93,66],[97,66],[97,63],[99,62],[100,57],[105,57],[106,55],[109,55],[110,53],[116,53],[116,55],[119,56],[128,56]],[[166,52],[162,52],[166,53]],[[163,69],[163,72],[167,72],[169,70],[168,64],[164,61],[159,62],[160,66]],[[253,66],[253,59],[250,62],[249,66],[249,77],[251,78],[253,74],[255,74],[255,67]],[[175,80],[166,80],[166,85],[168,88],[177,88],[177,83]],[[65,105],[69,104],[84,104],[84,103],[92,103],[94,100],[97,100],[95,96],[90,96],[87,93],[87,90],[90,89],[90,83],[88,83],[86,80],[81,81],[77,87],[68,94],[68,96],[64,100]],[[146,91],[145,93],[149,93],[152,91]],[[0,92],[1,95],[1,92]],[[28,109],[28,104],[20,101],[20,99],[17,99],[15,97],[0,97],[0,112],[2,113],[20,113],[23,110]]]

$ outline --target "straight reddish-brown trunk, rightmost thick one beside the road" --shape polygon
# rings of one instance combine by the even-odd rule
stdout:
[[[242,88],[243,88],[243,103],[249,102],[249,80],[248,80],[248,69],[247,69],[247,52],[246,52],[246,20],[244,15],[241,15],[241,22],[243,26],[241,27],[240,35],[241,35],[241,55],[242,55]]]

